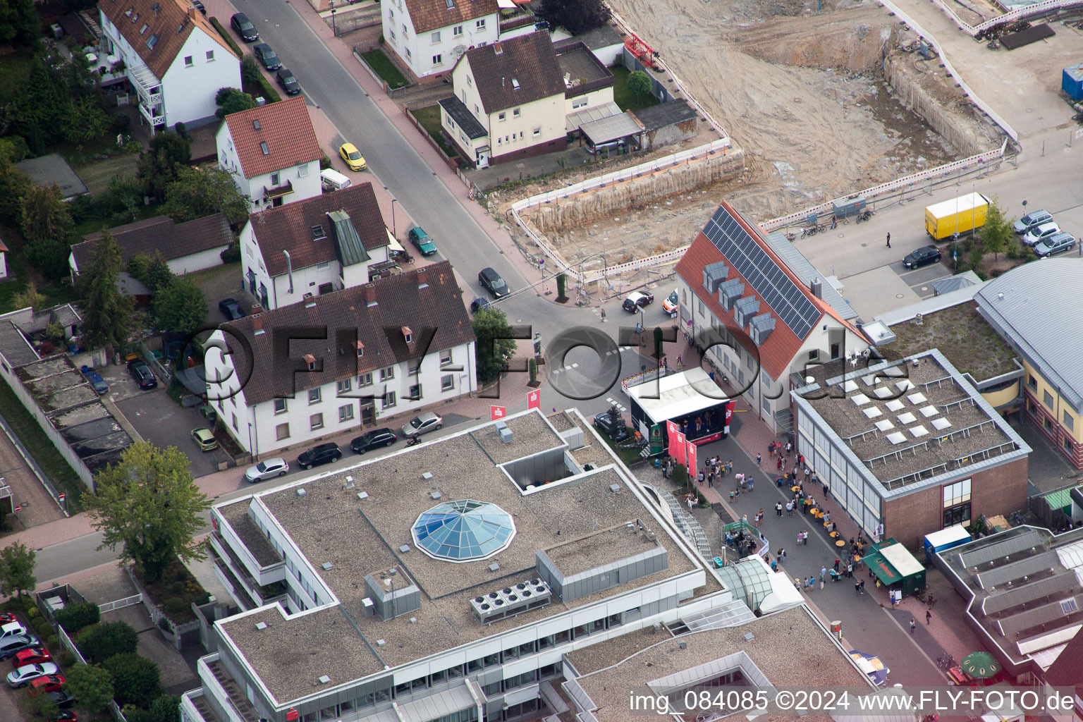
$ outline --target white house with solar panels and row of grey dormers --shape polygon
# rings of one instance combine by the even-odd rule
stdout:
[[[684,333],[781,433],[793,428],[791,377],[870,344],[838,292],[774,240],[722,202],[677,264],[677,294]]]

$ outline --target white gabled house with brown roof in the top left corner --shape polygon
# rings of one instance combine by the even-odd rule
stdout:
[[[99,63],[123,68],[155,130],[210,122],[218,89],[240,88],[240,58],[184,0],[101,0],[97,10]]]

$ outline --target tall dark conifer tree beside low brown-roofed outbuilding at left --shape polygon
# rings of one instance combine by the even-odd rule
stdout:
[[[120,247],[107,231],[94,244],[90,267],[80,275],[82,334],[89,349],[119,346],[132,328],[132,303],[117,286]]]

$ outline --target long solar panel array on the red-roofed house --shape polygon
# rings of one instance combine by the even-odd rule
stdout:
[[[798,338],[820,320],[820,310],[729,212],[719,207],[703,233]]]

